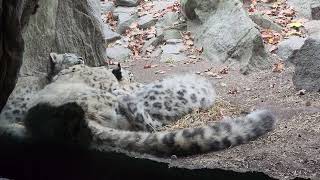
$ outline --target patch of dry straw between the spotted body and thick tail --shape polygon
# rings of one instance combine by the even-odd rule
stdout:
[[[239,116],[246,112],[243,107],[230,104],[223,100],[217,100],[215,105],[207,110],[195,110],[191,114],[187,114],[178,121],[169,124],[161,131],[170,131],[175,129],[183,129],[190,127],[199,127],[221,120],[225,116]]]

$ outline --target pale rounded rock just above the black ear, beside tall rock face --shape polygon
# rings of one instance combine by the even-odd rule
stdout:
[[[125,47],[114,46],[111,48],[107,48],[107,57],[115,61],[125,62],[129,60],[130,54],[130,49]]]

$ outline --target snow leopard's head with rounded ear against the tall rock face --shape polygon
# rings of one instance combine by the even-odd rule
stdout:
[[[51,70],[53,74],[57,74],[61,70],[67,69],[68,67],[71,67],[77,64],[84,64],[84,60],[82,57],[72,53],[64,53],[64,54],[50,53],[50,60],[52,65]]]

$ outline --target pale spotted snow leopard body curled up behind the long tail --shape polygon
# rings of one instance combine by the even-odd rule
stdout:
[[[155,81],[119,98],[120,110],[136,130],[155,131],[194,109],[214,104],[211,82],[198,75],[175,75]]]

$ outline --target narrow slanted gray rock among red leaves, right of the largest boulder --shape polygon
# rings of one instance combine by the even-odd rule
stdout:
[[[250,15],[250,18],[253,22],[255,22],[258,26],[260,26],[263,29],[272,29],[274,31],[277,31],[278,33],[281,33],[282,31],[282,27],[277,23],[273,22],[273,20],[265,14],[254,13]]]

